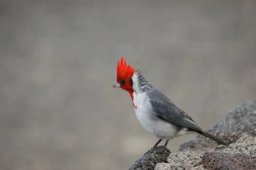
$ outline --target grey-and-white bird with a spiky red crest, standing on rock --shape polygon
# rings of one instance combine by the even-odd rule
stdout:
[[[173,138],[197,133],[229,146],[200,128],[187,113],[153,87],[142,76],[141,70],[135,70],[129,63],[126,64],[126,59],[122,56],[117,61],[116,72],[116,82],[112,87],[120,87],[129,93],[138,121],[145,131],[159,139],[152,147],[153,150],[162,140],[166,141],[158,152],[165,150],[169,140]]]

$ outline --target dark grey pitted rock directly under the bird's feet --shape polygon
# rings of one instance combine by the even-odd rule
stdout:
[[[162,146],[156,148],[161,149]],[[129,170],[154,170],[157,163],[167,162],[167,157],[171,151],[165,148],[164,151],[157,153],[156,150],[148,150],[139,160],[137,160]]]

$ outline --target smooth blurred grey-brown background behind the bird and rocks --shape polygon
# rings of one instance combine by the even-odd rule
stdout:
[[[120,56],[212,128],[255,99],[255,17],[254,0],[0,0],[1,169],[128,169],[151,148],[112,88]]]

